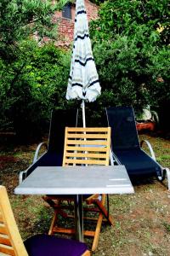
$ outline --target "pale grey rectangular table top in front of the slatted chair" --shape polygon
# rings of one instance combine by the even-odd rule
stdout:
[[[125,166],[39,166],[14,189],[18,195],[130,194]]]

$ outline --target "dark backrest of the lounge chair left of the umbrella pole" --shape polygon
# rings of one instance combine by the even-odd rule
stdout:
[[[49,128],[48,152],[63,154],[65,126],[77,126],[77,109],[58,109],[52,112]]]

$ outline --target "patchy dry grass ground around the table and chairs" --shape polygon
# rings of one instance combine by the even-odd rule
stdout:
[[[152,144],[156,159],[170,167],[170,141],[161,137],[141,135]],[[31,164],[37,144],[0,146],[0,180],[8,189],[14,216],[23,239],[47,233],[53,210],[40,196],[14,195],[20,171]],[[94,256],[168,256],[170,255],[170,192],[166,181],[156,179],[135,182],[134,195],[110,195],[110,212],[115,226],[105,225],[99,236]],[[86,240],[88,246],[91,240]]]

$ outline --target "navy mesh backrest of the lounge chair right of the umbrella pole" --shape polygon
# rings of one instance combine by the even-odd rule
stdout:
[[[132,107],[106,108],[108,124],[111,126],[111,146],[116,150],[139,148]]]

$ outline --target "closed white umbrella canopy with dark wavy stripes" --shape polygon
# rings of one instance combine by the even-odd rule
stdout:
[[[84,0],[77,0],[74,46],[66,99],[94,102],[100,95],[99,76],[94,63]]]

